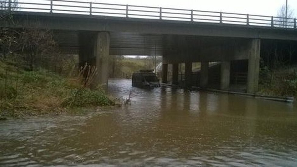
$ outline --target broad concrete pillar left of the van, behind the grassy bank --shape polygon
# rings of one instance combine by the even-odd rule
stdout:
[[[106,89],[108,86],[110,35],[108,32],[79,32],[79,65],[87,63],[96,67],[97,73],[91,87],[98,84]]]

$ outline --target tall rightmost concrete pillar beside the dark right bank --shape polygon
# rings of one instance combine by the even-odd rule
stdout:
[[[248,93],[258,91],[259,68],[260,68],[260,39],[253,39],[250,42],[248,71],[247,71],[247,88]]]

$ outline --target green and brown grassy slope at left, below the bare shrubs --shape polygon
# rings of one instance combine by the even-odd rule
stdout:
[[[24,71],[0,60],[0,117],[77,113],[114,101],[100,89],[83,87],[78,78],[65,78],[39,69]]]

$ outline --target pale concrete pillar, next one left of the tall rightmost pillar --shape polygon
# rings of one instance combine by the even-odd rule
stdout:
[[[230,84],[230,61],[221,63],[221,89],[228,90]]]

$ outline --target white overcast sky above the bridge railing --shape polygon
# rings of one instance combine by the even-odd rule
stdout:
[[[90,0],[78,1],[89,2]],[[267,16],[276,16],[280,6],[285,4],[285,0],[92,0],[92,2],[237,12]],[[294,18],[297,17],[297,0],[288,0],[288,4],[294,10]]]

